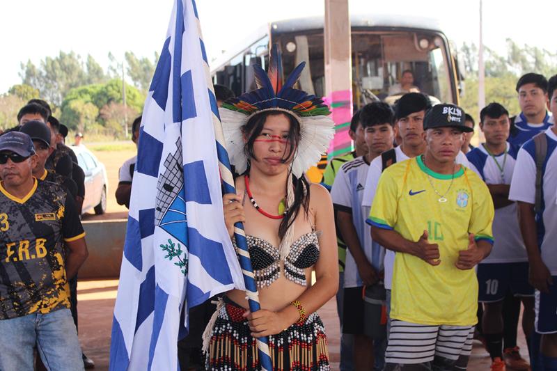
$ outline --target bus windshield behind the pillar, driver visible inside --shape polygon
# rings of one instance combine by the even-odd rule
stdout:
[[[285,75],[301,61],[307,65],[301,88],[325,95],[323,33],[273,37],[283,52]],[[352,31],[352,90],[359,108],[373,100],[393,104],[411,91],[434,102],[453,102],[446,42],[432,31]]]

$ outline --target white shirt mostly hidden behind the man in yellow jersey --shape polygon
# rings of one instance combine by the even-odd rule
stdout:
[[[396,162],[405,161],[409,159],[405,152],[402,152],[400,145],[395,148],[395,157]],[[462,151],[458,152],[458,155],[455,159],[457,164],[462,164],[466,167],[469,166],[468,159],[466,159],[466,155]],[[381,177],[381,173],[383,172],[383,161],[382,157],[378,156],[370,164],[370,170],[368,171],[368,177],[366,178],[366,186],[363,193],[363,200],[362,200],[362,208],[366,213],[366,223],[370,224],[368,221],[368,216],[370,214],[371,205],[373,203],[373,198],[375,198],[375,190],[377,189],[377,184],[379,183],[379,177]],[[370,232],[371,234],[371,232]],[[392,250],[385,250],[385,259],[384,259],[384,270],[385,270],[385,288],[387,290],[391,290],[393,285],[393,267],[395,265],[395,252]]]

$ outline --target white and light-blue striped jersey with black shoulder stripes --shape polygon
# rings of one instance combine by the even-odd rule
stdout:
[[[360,241],[363,253],[368,261],[377,269],[383,269],[384,249],[379,244],[373,244],[371,239],[370,226],[366,224],[367,214],[364,214],[361,206],[364,184],[368,175],[369,164],[365,157],[357,157],[340,167],[336,173],[331,198],[336,210],[349,212],[352,214],[352,222],[356,229],[356,234]],[[346,252],[346,262],[344,269],[345,287],[360,287],[363,285],[361,277],[356,267],[356,261],[350,253]]]

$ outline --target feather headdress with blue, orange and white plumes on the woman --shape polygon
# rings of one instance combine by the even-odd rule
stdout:
[[[283,81],[283,65],[278,45],[273,45],[269,58],[269,71],[253,65],[257,89],[231,98],[219,109],[230,162],[238,173],[244,173],[248,159],[244,152],[242,126],[258,113],[284,111],[300,124],[300,140],[292,162],[292,173],[300,177],[317,164],[334,135],[334,123],[327,117],[331,111],[323,101],[304,90],[294,88],[305,62],[300,63]]]

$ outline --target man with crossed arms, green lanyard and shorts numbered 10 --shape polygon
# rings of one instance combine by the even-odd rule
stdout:
[[[534,289],[528,283],[528,256],[522,242],[517,219],[517,204],[508,199],[510,182],[519,148],[507,139],[510,131],[509,113],[499,103],[490,103],[480,112],[480,129],[485,143],[471,150],[466,157],[470,168],[487,183],[495,206],[491,254],[478,265],[479,301],[483,303],[483,336],[492,357],[492,370],[504,365],[528,370],[530,365],[519,354],[519,348],[505,349],[503,357],[503,308],[508,305],[508,291],[524,303],[522,329],[530,338],[534,326]],[[510,302],[512,304],[512,301]],[[511,357],[514,354],[514,357]],[[512,362],[511,362],[512,360]],[[511,367],[512,366],[512,367]]]

